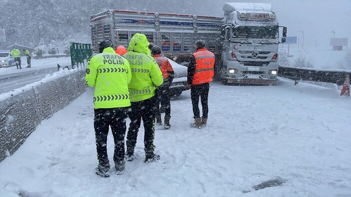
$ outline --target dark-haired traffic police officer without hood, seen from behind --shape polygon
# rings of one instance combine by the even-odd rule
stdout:
[[[131,80],[129,62],[116,54],[110,40],[99,43],[99,54],[88,61],[85,83],[94,89],[94,129],[98,167],[96,174],[108,177],[107,135],[111,127],[114,140],[113,161],[116,174],[124,173],[124,137],[126,110],[130,106],[128,83]]]

